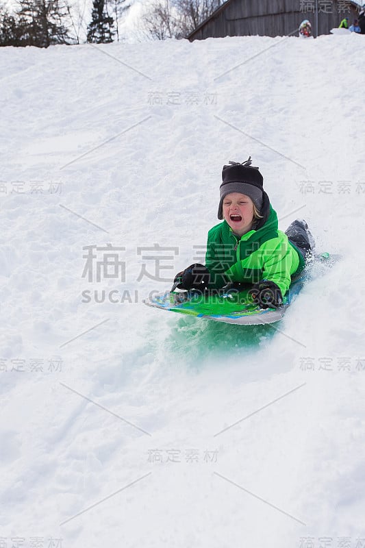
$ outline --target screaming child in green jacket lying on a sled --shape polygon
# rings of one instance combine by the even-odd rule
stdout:
[[[278,229],[277,214],[257,167],[247,162],[223,166],[218,219],[208,232],[205,266],[192,264],[175,277],[175,288],[217,290],[247,288],[262,308],[276,307],[292,277],[312,256],[314,241],[307,223],[297,219]]]

